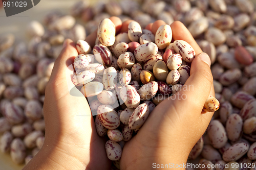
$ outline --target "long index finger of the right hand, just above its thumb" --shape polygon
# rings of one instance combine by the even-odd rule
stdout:
[[[172,28],[173,31],[173,39],[174,40],[183,40],[189,43],[195,50],[196,54],[200,54],[203,51],[197,44],[196,40],[193,38],[193,36],[190,34],[190,32],[187,30],[187,28],[183,25],[180,21],[174,21],[170,28]]]

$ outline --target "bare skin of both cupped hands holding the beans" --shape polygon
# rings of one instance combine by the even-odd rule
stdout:
[[[117,17],[110,19],[116,32],[126,32],[131,22],[121,23]],[[158,20],[146,29],[155,33],[163,24]],[[153,169],[153,163],[186,163],[190,150],[205,132],[213,115],[213,112],[202,112],[208,95],[214,96],[210,59],[206,54],[201,55],[201,48],[181,22],[175,21],[170,27],[174,40],[185,40],[196,51],[190,77],[185,83],[193,89],[176,94],[186,95],[186,100],[165,100],[152,111],[138,134],[124,145],[121,169]],[[94,32],[86,41],[93,46],[96,36]],[[66,40],[46,88],[45,143],[24,170],[111,168],[105,153],[105,139],[97,135],[86,98],[70,95],[67,87],[65,72],[77,55],[74,42]],[[81,114],[87,116],[77,116]]]

